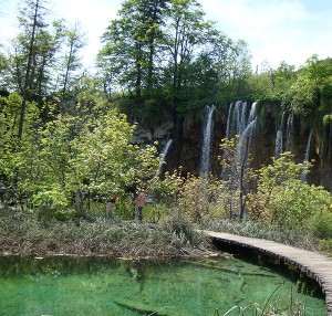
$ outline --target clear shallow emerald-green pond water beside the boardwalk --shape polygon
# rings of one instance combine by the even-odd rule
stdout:
[[[295,283],[232,259],[121,261],[111,259],[0,259],[0,315],[224,315],[235,305],[279,306],[292,299],[307,316],[326,315],[323,297],[295,292]],[[229,314],[239,315],[239,313]],[[251,315],[251,314],[250,314]]]

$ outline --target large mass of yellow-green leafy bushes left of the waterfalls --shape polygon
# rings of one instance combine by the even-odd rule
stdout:
[[[92,92],[90,85],[85,88]],[[21,141],[15,141],[14,129],[21,98],[17,94],[1,98],[0,127],[4,141],[0,173],[8,187],[14,187],[18,199],[49,194],[54,188],[65,197],[84,189],[94,197],[108,190],[121,193],[126,185],[146,182],[155,175],[159,165],[156,146],[132,145],[135,127],[128,125],[125,115],[114,108],[106,109],[98,94],[91,93],[87,99],[82,92],[77,98],[79,113],[59,114],[44,125],[39,120],[37,105],[27,103]],[[82,201],[76,199],[76,203]],[[38,204],[62,211],[49,202]]]

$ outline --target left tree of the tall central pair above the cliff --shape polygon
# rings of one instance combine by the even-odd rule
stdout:
[[[105,46],[98,54],[107,61],[117,83],[137,98],[155,84],[156,42],[160,36],[162,11],[168,1],[127,0],[103,34]]]

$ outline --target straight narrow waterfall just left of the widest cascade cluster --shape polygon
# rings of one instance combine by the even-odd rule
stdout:
[[[201,147],[201,158],[200,158],[200,175],[208,175],[210,169],[210,150],[211,150],[211,135],[214,128],[212,114],[216,106],[207,106],[207,118],[203,133],[203,147]]]

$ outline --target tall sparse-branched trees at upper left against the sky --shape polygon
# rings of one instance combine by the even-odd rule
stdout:
[[[59,89],[62,95],[66,93],[73,73],[81,66],[79,51],[84,45],[84,34],[79,32],[79,25],[68,29],[63,20],[48,23],[45,3],[45,0],[24,0],[20,9],[22,31],[14,41],[15,52],[11,57],[14,86],[23,96],[19,138],[27,102],[37,101],[46,122],[50,109],[44,99]]]

